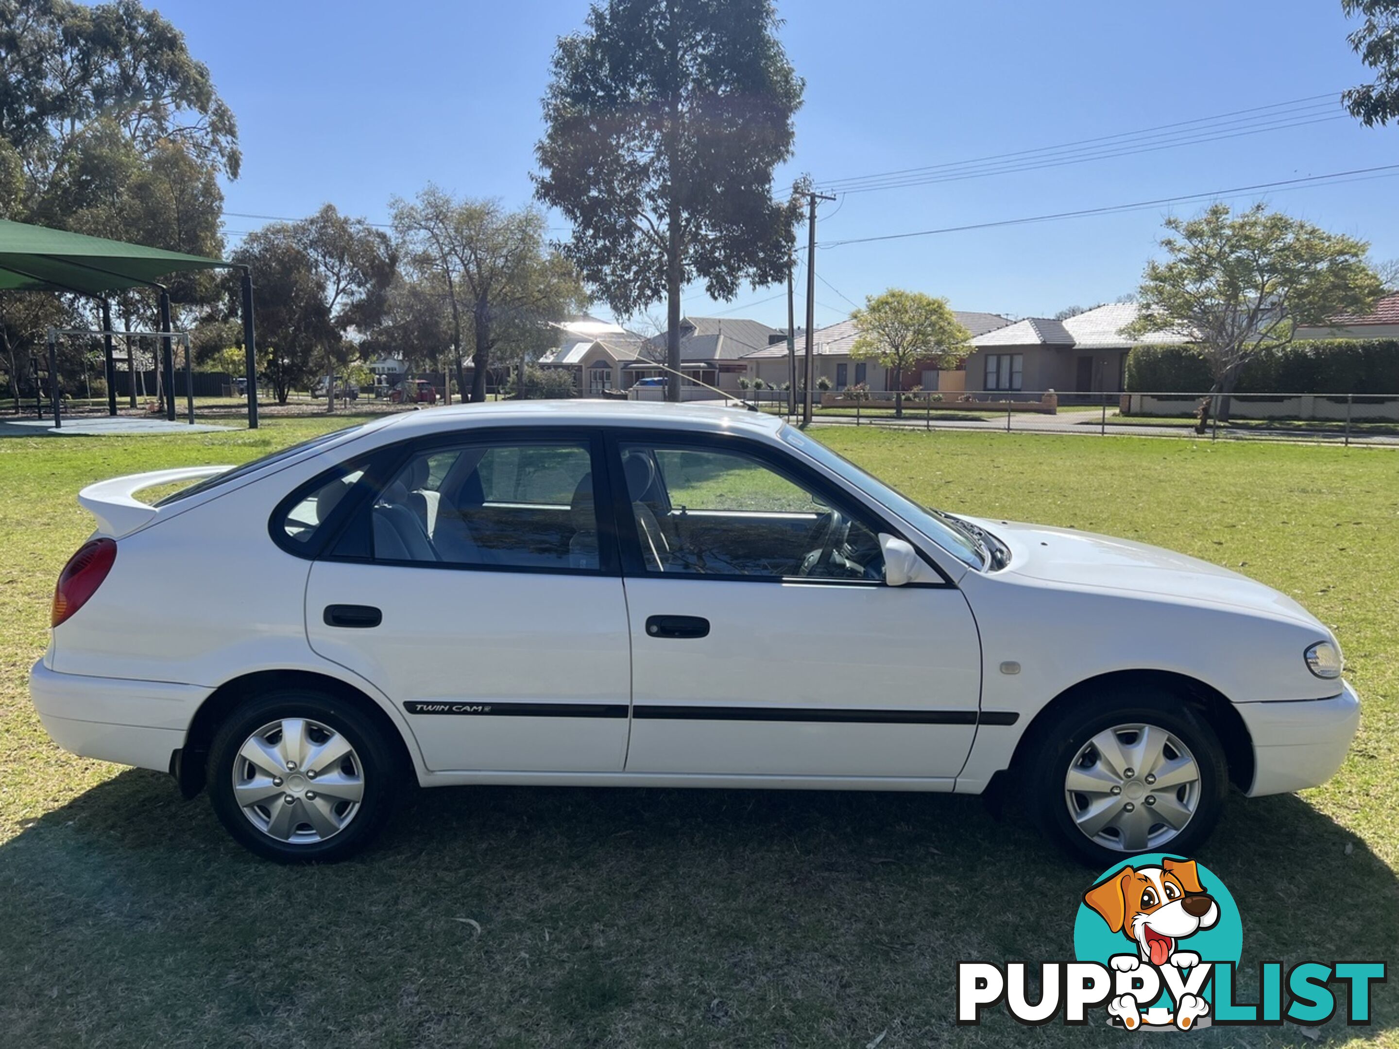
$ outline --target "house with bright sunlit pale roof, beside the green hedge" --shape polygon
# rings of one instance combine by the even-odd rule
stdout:
[[[1121,393],[1126,359],[1137,345],[1179,345],[1188,331],[1149,331],[1128,337],[1137,317],[1132,302],[1112,302],[1065,320],[1025,317],[971,340],[967,390],[1073,394]]]

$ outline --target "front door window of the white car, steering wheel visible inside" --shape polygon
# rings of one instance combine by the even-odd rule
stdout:
[[[621,445],[645,569],[655,575],[880,582],[879,536],[741,452]]]

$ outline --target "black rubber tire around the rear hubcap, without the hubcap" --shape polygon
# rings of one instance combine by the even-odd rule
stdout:
[[[318,842],[285,842],[253,824],[234,794],[234,765],[243,743],[264,725],[304,718],[344,736],[364,780],[360,807],[333,835]],[[336,863],[365,849],[393,815],[404,778],[397,748],[353,704],[315,690],[287,688],[248,699],[224,720],[208,751],[208,794],[228,832],[250,852],[278,863]],[[313,786],[313,785],[311,785]]]

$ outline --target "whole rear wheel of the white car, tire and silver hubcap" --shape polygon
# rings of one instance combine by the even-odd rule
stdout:
[[[214,736],[214,811],[238,842],[281,863],[330,863],[383,829],[404,771],[378,726],[336,697],[270,692]]]

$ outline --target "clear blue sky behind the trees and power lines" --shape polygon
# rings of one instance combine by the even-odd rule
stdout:
[[[558,35],[586,0],[396,4],[166,0],[239,122],[228,211],[299,217],[322,203],[385,221],[427,182],[523,204],[539,98]],[[818,182],[1055,145],[1340,92],[1365,70],[1339,0],[785,0],[782,39],[806,78],[789,171]],[[1342,113],[1339,104],[1318,116]],[[1399,127],[1346,119],[823,206],[834,242],[1156,200],[1399,162]],[[1273,192],[1277,207],[1399,256],[1399,179]],[[1248,203],[1252,197],[1237,203]],[[1231,201],[1235,203],[1235,201]],[[1193,213],[1200,204],[1179,206]],[[817,323],[890,285],[958,309],[1045,315],[1130,292],[1167,207],[827,248]],[[229,215],[231,232],[259,220]],[[837,291],[838,290],[838,291]],[[785,324],[778,288],[712,304]],[[748,304],[753,304],[751,306]],[[802,302],[799,294],[797,316]],[[660,312],[659,309],[656,311]]]

